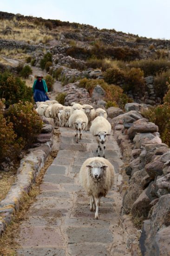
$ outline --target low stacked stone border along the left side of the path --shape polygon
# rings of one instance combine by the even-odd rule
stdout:
[[[54,123],[51,118],[43,119],[43,121],[46,125],[37,138],[37,143],[34,145],[36,147],[30,149],[20,161],[16,180],[6,198],[0,201],[0,236],[15,218],[15,213],[19,211],[22,204],[23,194],[29,193],[52,150]]]

